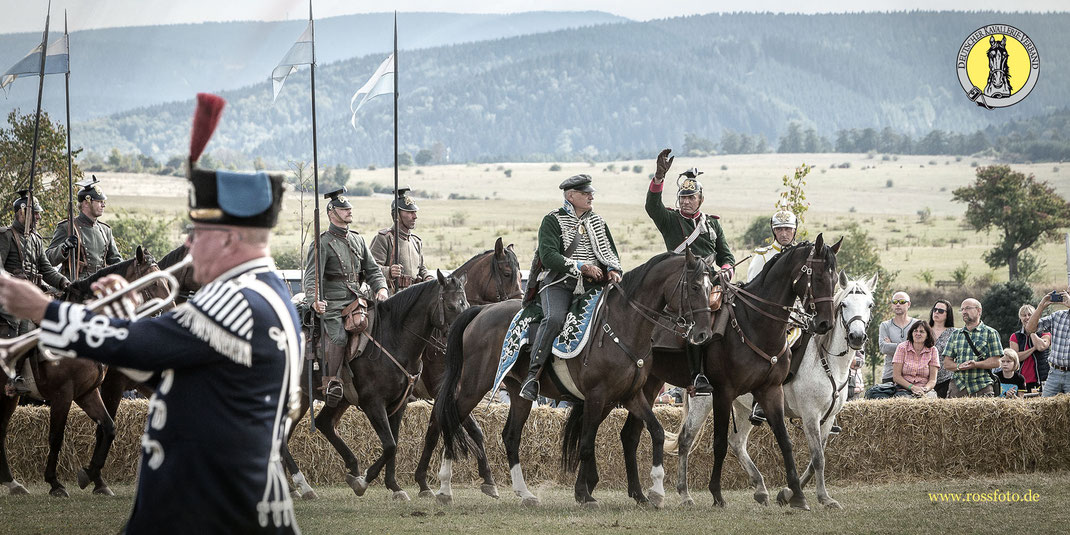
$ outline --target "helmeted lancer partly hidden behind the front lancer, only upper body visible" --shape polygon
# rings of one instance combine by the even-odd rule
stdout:
[[[394,258],[394,227],[386,227],[371,240],[371,256],[386,274],[386,287],[391,294],[409,288],[414,282],[431,280],[424,265],[424,242],[412,229],[416,228],[416,202],[409,197],[410,188],[398,189],[391,202],[391,217],[398,224],[397,258]]]

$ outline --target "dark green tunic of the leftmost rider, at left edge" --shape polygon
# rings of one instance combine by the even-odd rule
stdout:
[[[15,277],[40,285],[42,280],[63,289],[70,282],[56,268],[48,262],[45,255],[45,242],[36,231],[26,233],[21,223],[15,221],[11,227],[0,227],[0,261],[3,269]],[[33,328],[33,323],[18,320],[3,309],[0,309],[0,331],[6,331],[6,337],[15,336]]]

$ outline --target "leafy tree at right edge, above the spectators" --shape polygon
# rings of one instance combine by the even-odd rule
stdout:
[[[1003,238],[984,261],[1008,269],[1019,279],[1019,256],[1038,242],[1058,238],[1070,226],[1070,203],[1046,182],[1009,166],[979,167],[973,185],[951,192],[951,199],[966,203],[966,223],[974,230],[999,229]]]

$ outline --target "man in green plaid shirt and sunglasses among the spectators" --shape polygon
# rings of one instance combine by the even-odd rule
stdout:
[[[981,322],[981,303],[975,299],[962,302],[963,327],[947,341],[944,367],[954,372],[954,380],[948,389],[949,397],[994,396],[992,383],[995,378],[990,372],[999,367],[1003,345],[999,333]]]

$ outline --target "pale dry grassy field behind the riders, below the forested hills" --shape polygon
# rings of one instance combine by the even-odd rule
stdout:
[[[949,280],[952,271],[964,262],[970,281],[978,277],[1006,280],[1006,269],[991,270],[981,260],[981,255],[998,236],[963,227],[961,216],[965,207],[951,201],[951,190],[974,180],[973,164],[991,165],[994,163],[991,160],[954,156],[895,156],[885,160],[882,155],[866,154],[762,154],[679,157],[673,164],[673,171],[688,167],[706,171],[702,175],[707,190],[704,210],[720,215],[730,243],[738,243],[753,217],[771,212],[782,187],[781,177],[804,162],[814,166],[806,188],[811,208],[805,228],[810,235],[824,231],[835,239],[846,224],[858,223],[883,251],[885,266],[900,272],[897,286],[901,288],[924,288],[927,285],[919,274],[926,270],[932,270],[934,280]],[[843,164],[850,164],[850,168],[840,168]],[[642,167],[639,173],[633,171],[637,165]],[[402,170],[402,185],[442,197],[419,201],[416,231],[425,240],[428,265],[455,268],[489,248],[496,236],[503,236],[506,243],[516,244],[521,264],[526,268],[541,216],[561,200],[557,184],[580,172],[595,179],[598,188],[595,209],[610,221],[625,268],[661,250],[657,231],[643,211],[647,177],[654,170],[653,155],[645,162],[561,164],[559,171],[550,171],[550,166],[469,164]],[[1057,164],[1011,167],[1050,182],[1064,197],[1070,198],[1070,168],[1060,169]],[[112,210],[181,215],[185,207],[184,179],[98,175],[108,184]],[[350,181],[389,184],[393,169],[355,170]],[[477,196],[480,200],[447,200],[450,194]],[[312,213],[311,195],[304,198],[307,225]],[[666,198],[672,202],[671,195]],[[389,200],[385,195],[350,197],[355,208],[353,228],[370,234],[388,226]],[[299,196],[291,194],[278,229],[276,251],[294,250],[302,243],[301,204]],[[920,223],[918,211],[924,209],[931,211],[932,217]],[[749,254],[739,250],[738,245],[735,249],[737,259]],[[1063,243],[1045,243],[1038,250],[1046,262],[1041,286],[1064,282]]]

